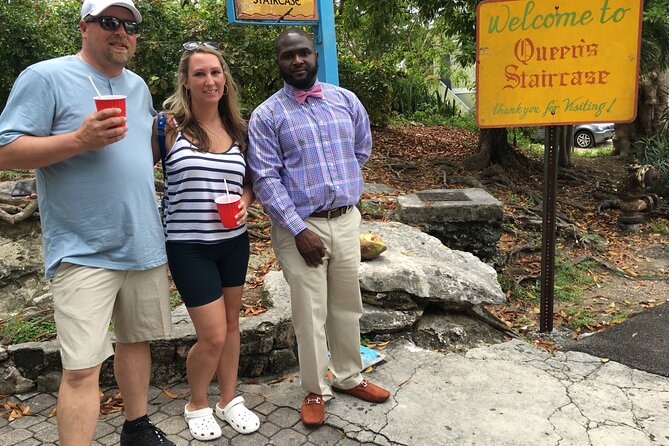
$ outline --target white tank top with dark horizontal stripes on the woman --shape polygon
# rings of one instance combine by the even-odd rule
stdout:
[[[239,145],[233,143],[224,153],[199,152],[181,133],[165,159],[167,181],[167,241],[218,243],[246,231],[223,227],[214,199],[225,195],[241,196],[246,161]]]

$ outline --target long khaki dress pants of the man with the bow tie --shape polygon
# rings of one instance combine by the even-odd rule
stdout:
[[[328,366],[335,387],[349,389],[362,381],[360,219],[353,206],[339,217],[305,220],[327,248],[323,265],[317,268],[307,266],[290,232],[272,225],[272,246],[290,285],[302,387],[326,401],[332,398]]]

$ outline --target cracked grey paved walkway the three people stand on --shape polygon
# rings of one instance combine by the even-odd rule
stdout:
[[[524,341],[443,355],[396,340],[369,373],[391,389],[378,405],[338,395],[326,425],[304,427],[298,379],[240,384],[260,430],[229,426],[213,442],[190,438],[182,417],[188,390],[151,389],[152,420],[179,445],[669,445],[669,378],[579,352],[548,353]],[[214,392],[212,387],[212,392]],[[2,445],[53,445],[54,395],[25,395],[35,416],[0,420]],[[214,398],[212,398],[212,404]],[[121,414],[100,419],[96,445],[116,445]]]

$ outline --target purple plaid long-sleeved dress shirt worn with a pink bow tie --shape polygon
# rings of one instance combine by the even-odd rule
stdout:
[[[354,205],[361,169],[372,150],[367,111],[350,91],[321,83],[323,98],[298,104],[284,87],[249,121],[248,163],[253,189],[273,222],[291,234],[313,212]]]

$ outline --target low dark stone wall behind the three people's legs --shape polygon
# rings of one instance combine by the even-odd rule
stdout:
[[[282,373],[297,365],[290,299],[281,294],[275,298],[275,302],[264,300],[271,307],[269,311],[240,320],[240,376]],[[183,305],[172,312],[172,327],[169,338],[151,343],[151,383],[156,386],[186,380],[186,355],[195,343],[195,329]],[[60,384],[61,368],[58,341],[0,347],[0,394],[54,392]],[[102,365],[100,383],[115,383],[111,358]]]

